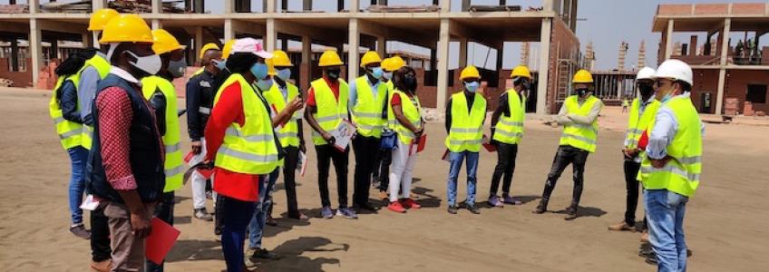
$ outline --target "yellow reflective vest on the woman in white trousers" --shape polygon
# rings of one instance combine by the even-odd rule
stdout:
[[[398,135],[398,140],[403,144],[411,144],[414,141],[414,131],[410,131],[400,121],[395,118],[393,112],[393,97],[399,95],[401,97],[401,110],[404,112],[404,116],[408,121],[416,128],[422,127],[422,103],[419,102],[419,98],[414,96],[414,101],[409,98],[408,94],[399,90],[393,90],[393,94],[390,95],[390,99],[387,102],[387,122],[388,126],[392,128]]]

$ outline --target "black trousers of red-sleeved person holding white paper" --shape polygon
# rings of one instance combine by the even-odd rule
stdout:
[[[334,169],[336,170],[336,193],[339,197],[339,207],[347,207],[347,157],[350,154],[350,148],[345,151],[338,151],[331,144],[316,145],[317,155],[317,188],[320,190],[320,202],[323,207],[330,207],[331,200],[328,199],[328,168],[331,166],[331,160],[334,160]]]

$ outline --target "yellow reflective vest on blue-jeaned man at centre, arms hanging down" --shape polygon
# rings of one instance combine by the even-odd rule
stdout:
[[[452,152],[481,151],[483,119],[486,117],[486,99],[475,93],[472,109],[467,111],[464,92],[452,95],[452,125],[446,137],[446,147]]]

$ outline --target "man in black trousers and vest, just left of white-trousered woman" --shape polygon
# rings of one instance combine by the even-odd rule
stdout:
[[[361,68],[365,74],[350,83],[349,102],[355,123],[355,179],[353,193],[353,208],[358,211],[365,209],[374,211],[376,208],[368,201],[371,175],[374,171],[377,151],[381,144],[382,130],[387,123],[385,111],[387,103],[387,85],[381,83],[384,70],[382,58],[375,51],[364,53],[361,58]]]

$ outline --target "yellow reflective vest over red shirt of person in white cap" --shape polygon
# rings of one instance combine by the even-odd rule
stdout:
[[[230,84],[240,85],[245,122],[242,127],[238,122],[229,124],[214,163],[219,168],[233,172],[268,174],[278,166],[275,132],[272,130],[269,109],[239,73],[232,73],[221,84],[214,98],[214,107],[224,88]]]

